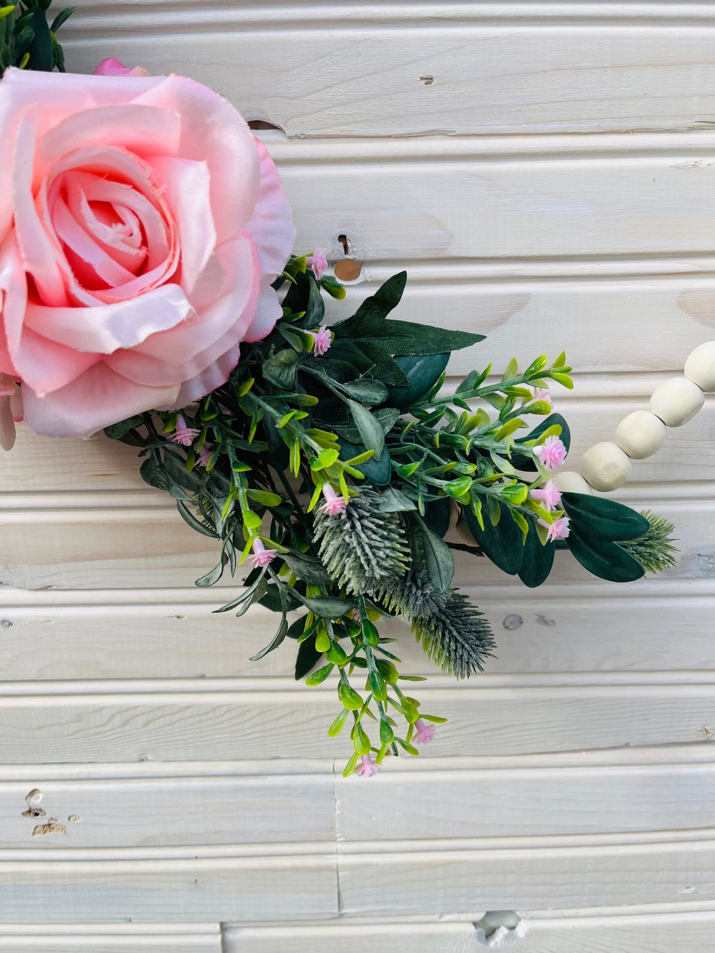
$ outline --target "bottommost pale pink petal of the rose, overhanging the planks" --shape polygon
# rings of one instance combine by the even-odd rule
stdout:
[[[100,361],[67,387],[38,397],[23,387],[25,419],[42,436],[89,437],[117,420],[174,405],[179,388],[141,387]]]

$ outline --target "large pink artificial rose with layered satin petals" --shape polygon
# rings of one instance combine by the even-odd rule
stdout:
[[[273,328],[291,210],[234,107],[180,76],[0,83],[0,373],[48,436],[223,384]]]

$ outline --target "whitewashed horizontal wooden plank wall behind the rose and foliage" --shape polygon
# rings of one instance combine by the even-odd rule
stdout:
[[[715,4],[77,2],[71,69],[185,72],[277,127],[298,246],[337,260],[347,236],[350,303],[407,267],[400,316],[488,335],[452,384],[565,347],[575,456],[714,336]],[[296,685],[291,647],[248,661],[269,614],[211,615],[236,583],[194,589],[213,547],[133,451],[21,430],[0,458],[0,951],[711,950],[714,416],[620,495],[677,522],[664,578],[564,555],[531,592],[460,561],[499,640],[465,684],[394,623],[449,723],[369,784],[340,777],[332,690]]]

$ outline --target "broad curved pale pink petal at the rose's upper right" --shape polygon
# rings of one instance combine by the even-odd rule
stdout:
[[[209,167],[216,242],[234,238],[254,212],[260,177],[255,137],[241,114],[228,100],[183,76],[168,76],[136,102],[181,116],[179,154]]]

